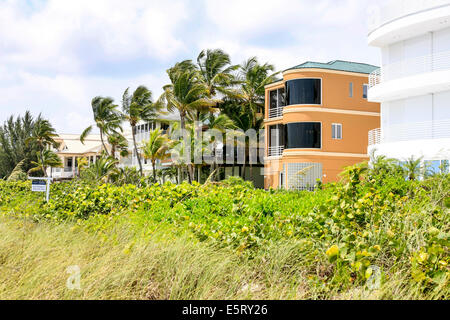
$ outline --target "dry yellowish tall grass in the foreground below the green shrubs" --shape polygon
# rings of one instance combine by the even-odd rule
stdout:
[[[279,242],[249,259],[169,230],[136,240],[122,218],[93,233],[72,223],[1,217],[0,233],[0,299],[433,298],[406,285],[401,269],[380,290],[320,290],[307,278],[313,264],[298,241]],[[81,290],[66,285],[74,265]],[[318,273],[330,268],[327,261],[315,266]]]

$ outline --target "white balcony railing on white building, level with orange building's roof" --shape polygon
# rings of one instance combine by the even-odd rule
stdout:
[[[389,80],[445,70],[450,70],[450,51],[406,59],[372,72],[369,76],[369,88]]]

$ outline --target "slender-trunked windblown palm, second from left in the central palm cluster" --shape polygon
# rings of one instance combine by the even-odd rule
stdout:
[[[145,86],[139,86],[130,96],[129,88],[125,90],[122,97],[122,117],[131,126],[134,151],[139,164],[139,172],[144,175],[140,152],[136,143],[136,125],[139,121],[156,120],[162,113],[163,106],[161,103],[152,102],[152,92]]]

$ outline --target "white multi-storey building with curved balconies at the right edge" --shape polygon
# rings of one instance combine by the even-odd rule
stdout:
[[[369,100],[381,103],[369,153],[438,169],[450,159],[450,0],[393,0],[371,13],[382,67],[369,81]]]

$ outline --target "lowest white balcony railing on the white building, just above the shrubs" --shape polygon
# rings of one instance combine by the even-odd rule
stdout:
[[[428,139],[450,139],[450,119],[398,124],[369,132],[369,145]]]

